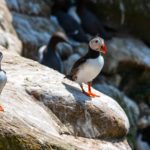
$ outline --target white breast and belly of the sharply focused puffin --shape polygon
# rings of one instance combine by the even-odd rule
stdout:
[[[104,66],[104,58],[100,55],[95,59],[88,59],[83,65],[80,66],[77,72],[78,83],[91,82],[100,73]]]

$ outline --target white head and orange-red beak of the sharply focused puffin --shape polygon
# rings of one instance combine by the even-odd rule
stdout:
[[[106,53],[106,46],[104,40],[100,37],[96,37],[89,42],[89,46],[92,50]]]

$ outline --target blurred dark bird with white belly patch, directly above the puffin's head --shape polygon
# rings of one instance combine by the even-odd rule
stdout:
[[[102,22],[93,12],[86,8],[87,2],[87,0],[77,0],[76,6],[70,7],[68,13],[81,24],[85,32],[92,36],[101,35],[105,40],[109,39],[110,37],[106,33]]]

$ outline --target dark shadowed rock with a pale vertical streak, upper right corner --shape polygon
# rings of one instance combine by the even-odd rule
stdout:
[[[150,44],[150,1],[100,0],[92,7],[105,25],[121,32],[130,32]],[[140,21],[139,21],[140,20]]]

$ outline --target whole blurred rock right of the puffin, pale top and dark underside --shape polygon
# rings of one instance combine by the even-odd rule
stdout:
[[[149,103],[150,48],[132,38],[113,38],[107,48],[103,72],[118,74],[122,91],[137,102]]]

